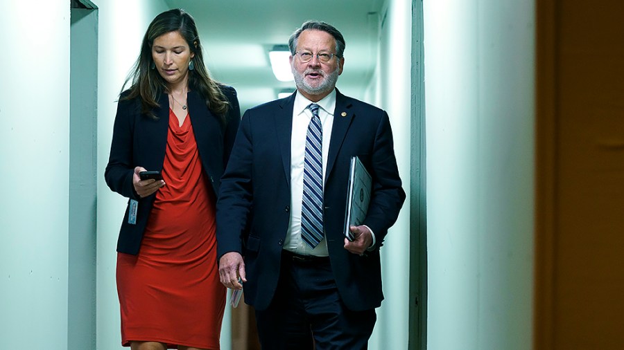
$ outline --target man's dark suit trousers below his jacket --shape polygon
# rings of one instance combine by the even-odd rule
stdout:
[[[362,291],[366,293],[366,291]],[[301,259],[284,252],[277,291],[270,306],[256,311],[262,349],[367,349],[374,309],[345,307],[329,257]]]

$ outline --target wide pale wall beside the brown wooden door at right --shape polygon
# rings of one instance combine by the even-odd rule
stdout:
[[[530,349],[533,1],[424,1],[428,349]]]

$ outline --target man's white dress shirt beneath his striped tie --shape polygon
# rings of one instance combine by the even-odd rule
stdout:
[[[327,240],[320,241],[316,248],[312,249],[301,239],[301,206],[303,200],[303,176],[304,158],[306,154],[306,135],[308,125],[312,119],[312,112],[308,109],[310,100],[297,91],[295,106],[293,107],[293,131],[291,136],[291,224],[286,234],[284,249],[301,255],[317,255],[327,257]],[[331,91],[319,102],[318,117],[323,129],[323,185],[325,183],[325,171],[327,169],[327,154],[329,153],[329,139],[331,127],[333,127],[333,111],[336,109],[336,89]]]

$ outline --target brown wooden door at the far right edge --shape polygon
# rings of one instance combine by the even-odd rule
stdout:
[[[624,349],[624,3],[536,8],[535,349]]]

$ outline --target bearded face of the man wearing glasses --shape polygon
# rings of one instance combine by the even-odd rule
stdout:
[[[311,53],[309,62],[301,62],[300,55],[291,56],[291,68],[297,89],[309,100],[318,102],[334,87],[338,75],[343,73],[344,58],[334,55],[328,62],[321,62],[318,53],[336,54],[336,39],[322,30],[304,30],[297,40],[297,53]]]

